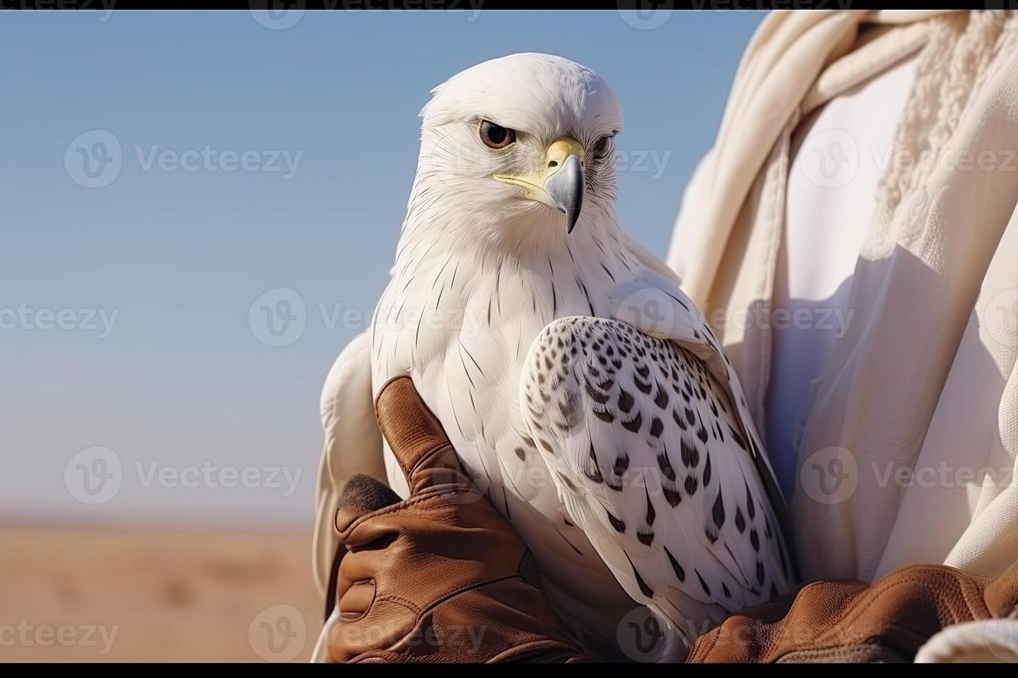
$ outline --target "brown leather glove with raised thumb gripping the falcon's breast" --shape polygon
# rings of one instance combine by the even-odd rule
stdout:
[[[385,384],[375,411],[411,494],[401,501],[363,475],[344,488],[329,659],[585,659],[549,607],[522,540],[472,487],[410,378]]]

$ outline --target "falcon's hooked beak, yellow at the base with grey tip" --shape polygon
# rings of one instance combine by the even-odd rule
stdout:
[[[566,217],[566,232],[572,233],[583,207],[583,146],[576,139],[563,136],[552,142],[545,153],[540,176],[510,177],[495,175],[495,179],[526,189],[526,196],[558,209]]]

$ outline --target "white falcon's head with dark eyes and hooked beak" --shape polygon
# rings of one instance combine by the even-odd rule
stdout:
[[[614,213],[622,110],[590,69],[514,54],[432,94],[420,113],[416,187],[419,195],[427,186],[445,213],[469,214],[472,228],[495,237],[538,232],[556,240]]]

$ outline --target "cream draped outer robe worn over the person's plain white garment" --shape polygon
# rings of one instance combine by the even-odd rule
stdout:
[[[999,575],[1018,558],[1018,17],[773,13],[685,191],[668,263],[716,324],[760,426],[771,333],[744,319],[773,310],[792,133],[967,18],[937,47],[974,50],[968,72],[920,53],[906,117],[934,116],[917,142],[941,155],[885,180],[891,208],[868,226],[854,316],[801,427],[792,511],[806,578],[871,580],[917,561]],[[863,22],[885,27],[857,42]],[[925,106],[954,96],[939,78],[962,85],[943,110]]]

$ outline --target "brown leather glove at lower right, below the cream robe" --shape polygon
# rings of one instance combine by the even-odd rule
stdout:
[[[998,579],[907,565],[875,583],[813,581],[701,635],[688,662],[911,662],[945,626],[1007,617],[1018,563]]]

